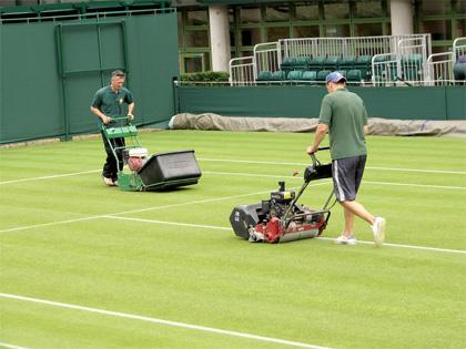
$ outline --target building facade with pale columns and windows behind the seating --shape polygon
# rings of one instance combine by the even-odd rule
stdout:
[[[1,6],[73,2],[83,0],[1,0]],[[227,71],[231,58],[278,39],[430,33],[435,53],[466,37],[466,0],[172,0],[172,6],[182,73]]]

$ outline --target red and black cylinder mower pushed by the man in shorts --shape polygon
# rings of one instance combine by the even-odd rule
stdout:
[[[328,147],[321,147],[328,150]],[[251,243],[286,243],[317,237],[325,229],[331,216],[330,194],[322,209],[312,209],[297,204],[297,199],[311,181],[332,177],[332,164],[321,164],[311,154],[312,164],[304,171],[304,183],[297,193],[286,191],[285,182],[278,182],[280,188],[271,193],[271,198],[260,204],[241,205],[233,208],[230,223],[236,236]]]

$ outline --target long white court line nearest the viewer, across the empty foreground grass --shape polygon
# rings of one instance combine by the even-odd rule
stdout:
[[[83,307],[83,306],[59,302],[59,301],[51,301],[51,300],[45,300],[45,299],[40,299],[40,298],[32,298],[32,297],[24,297],[24,296],[11,295],[11,294],[1,294],[1,292],[0,292],[0,297],[8,298],[8,299],[22,300],[22,301],[37,302],[37,304],[58,307],[58,308],[81,310],[81,311],[100,314],[100,315],[105,315],[105,316],[111,316],[111,317],[140,320],[140,321],[171,326],[171,327],[179,327],[179,328],[191,329],[195,331],[203,331],[203,332],[225,335],[225,336],[231,336],[231,337],[246,338],[246,339],[252,339],[252,340],[257,340],[257,341],[273,342],[273,343],[278,343],[278,345],[284,345],[284,346],[290,346],[290,347],[311,348],[311,349],[330,349],[328,347],[321,347],[321,346],[304,343],[300,341],[285,340],[285,339],[273,338],[273,337],[263,337],[263,336],[257,336],[257,335],[252,335],[252,333],[246,333],[246,332],[239,332],[239,331],[225,330],[225,329],[207,327],[207,326],[199,326],[199,325],[192,325],[192,324],[186,324],[186,322],[158,319],[158,318],[141,316],[141,315],[133,315],[133,314],[128,314],[128,312]]]

